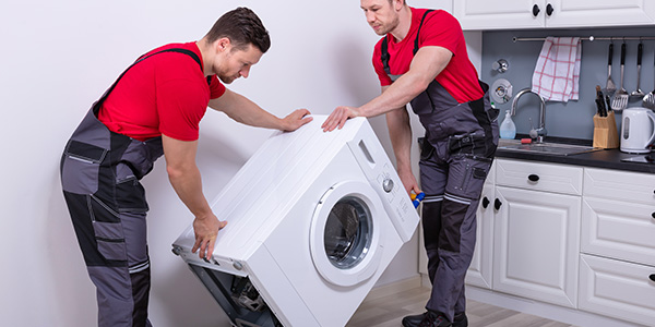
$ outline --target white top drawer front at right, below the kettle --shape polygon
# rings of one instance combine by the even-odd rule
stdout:
[[[584,195],[655,205],[655,174],[584,169]]]

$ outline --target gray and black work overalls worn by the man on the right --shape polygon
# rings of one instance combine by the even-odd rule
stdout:
[[[421,20],[425,20],[426,12]],[[414,53],[418,51],[418,34]],[[389,70],[386,39],[382,43],[382,61]],[[432,293],[426,308],[442,313],[453,322],[455,313],[466,310],[464,277],[471,265],[476,241],[476,210],[483,185],[498,145],[498,110],[485,95],[458,104],[443,86],[432,81],[414,98],[413,111],[426,129],[420,167],[422,227],[428,255],[428,274]]]

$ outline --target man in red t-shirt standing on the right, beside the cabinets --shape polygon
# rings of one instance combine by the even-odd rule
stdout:
[[[467,326],[464,277],[476,237],[476,209],[498,145],[498,110],[478,81],[458,22],[441,10],[404,0],[360,0],[373,31],[382,94],[360,107],[337,107],[324,131],[353,117],[386,113],[396,169],[407,193],[419,194],[412,173],[412,130],[406,105],[426,129],[421,145],[422,226],[432,293],[427,312],[403,326]]]

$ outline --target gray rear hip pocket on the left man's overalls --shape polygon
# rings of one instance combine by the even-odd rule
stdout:
[[[96,193],[100,162],[106,155],[107,150],[102,147],[70,140],[61,159],[63,191],[76,194]]]

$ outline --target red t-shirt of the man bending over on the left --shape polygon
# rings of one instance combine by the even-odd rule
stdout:
[[[195,43],[170,44],[154,49],[181,48],[202,56]],[[199,123],[210,99],[221,97],[225,86],[212,76],[211,85],[189,55],[163,52],[132,66],[107,97],[98,119],[112,132],[145,141],[166,136],[195,141]]]

